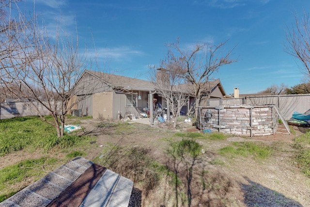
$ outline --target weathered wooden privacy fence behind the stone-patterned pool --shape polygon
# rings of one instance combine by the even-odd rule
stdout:
[[[237,105],[277,105],[283,117],[288,120],[294,111],[310,113],[310,94],[277,95],[277,96],[246,96],[243,98],[211,98],[208,106]]]

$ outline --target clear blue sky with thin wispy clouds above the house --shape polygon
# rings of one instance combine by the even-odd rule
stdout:
[[[234,87],[240,94],[291,87],[303,78],[284,45],[294,14],[310,12],[309,0],[35,0],[35,8],[51,37],[60,16],[67,31],[77,24],[79,39],[94,41],[101,67],[111,73],[147,80],[147,66],[158,65],[165,43],[179,37],[181,46],[228,40],[226,51],[236,47],[238,62],[212,77],[226,94]]]

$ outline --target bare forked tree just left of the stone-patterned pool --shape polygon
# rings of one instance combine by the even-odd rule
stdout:
[[[223,42],[212,46],[207,43],[197,43],[192,49],[183,49],[177,39],[175,43],[167,45],[169,48],[167,61],[177,63],[177,73],[186,84],[187,94],[195,98],[195,114],[202,101],[210,96],[211,88],[208,81],[211,76],[221,66],[237,61],[231,59],[233,49],[221,53],[220,50],[225,44],[226,42]]]

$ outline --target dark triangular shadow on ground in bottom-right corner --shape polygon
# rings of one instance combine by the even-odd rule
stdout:
[[[247,177],[245,179],[248,181],[248,185],[241,184],[241,189],[247,207],[303,207],[300,203],[285,197],[277,191],[253,182]]]

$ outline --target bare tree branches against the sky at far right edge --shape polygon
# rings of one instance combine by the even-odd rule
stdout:
[[[287,28],[286,41],[285,51],[302,63],[301,71],[310,77],[310,24],[306,12],[301,19],[295,15],[295,24]]]

